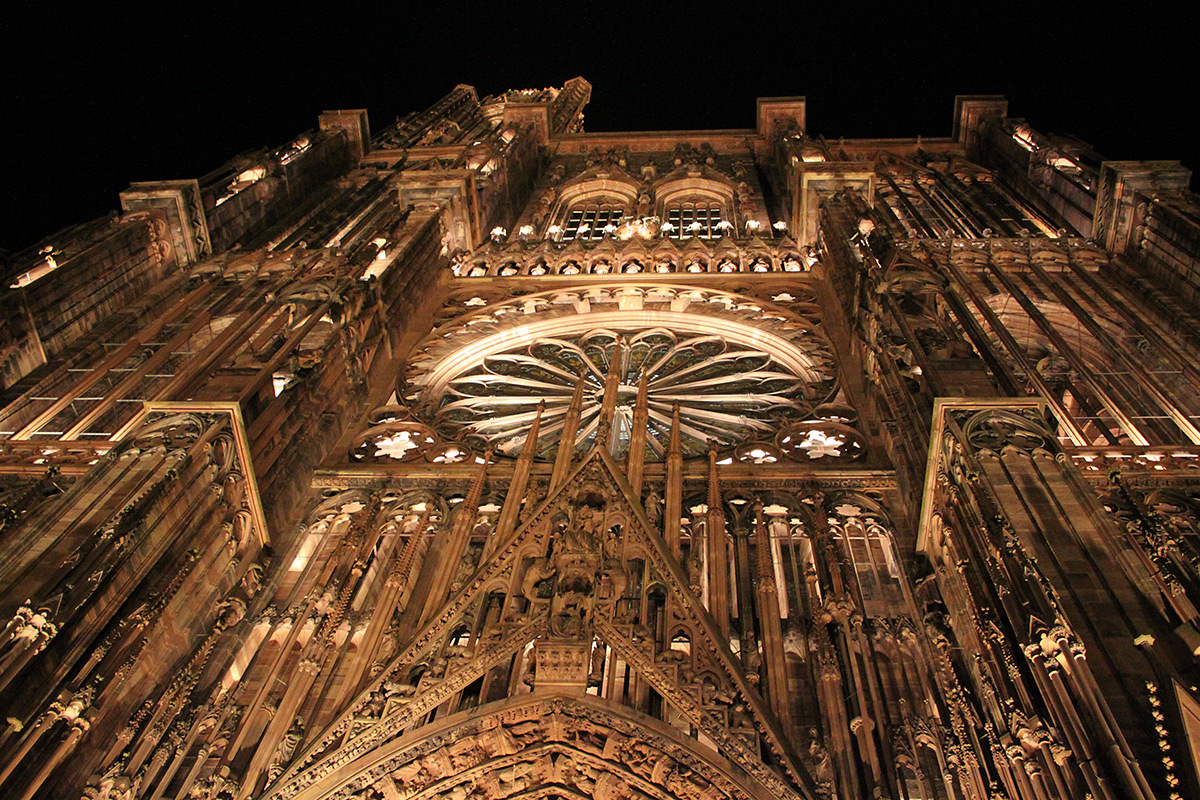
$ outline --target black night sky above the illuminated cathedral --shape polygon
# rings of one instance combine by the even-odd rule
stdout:
[[[16,2],[0,22],[10,251],[116,209],[130,181],[283,144],[325,108],[366,107],[379,128],[457,83],[576,74],[593,84],[589,131],[751,127],[755,97],[806,95],[811,133],[948,136],[954,95],[1003,94],[1012,115],[1110,158],[1200,168],[1200,40],[1174,16],[1187,4],[1130,5],[1139,19],[1014,2],[94,5],[118,11]]]

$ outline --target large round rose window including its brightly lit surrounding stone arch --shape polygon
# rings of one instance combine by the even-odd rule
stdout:
[[[414,354],[401,395],[439,440],[476,453],[493,447],[517,456],[545,402],[536,458],[552,461],[581,377],[575,449],[590,449],[618,351],[610,435],[618,456],[630,446],[643,378],[648,461],[666,457],[676,403],[684,457],[703,456],[715,440],[722,452],[743,449],[739,461],[774,463],[793,457],[778,433],[828,419],[822,409],[838,396],[817,324],[758,299],[622,287],[473,301],[457,300],[460,314],[448,314]],[[810,461],[806,452],[803,461]]]

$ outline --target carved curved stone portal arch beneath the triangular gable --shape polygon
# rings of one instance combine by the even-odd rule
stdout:
[[[448,716],[264,798],[772,800],[802,798],[772,768],[738,769],[677,728],[593,697],[523,696]],[[367,794],[364,794],[367,793]]]

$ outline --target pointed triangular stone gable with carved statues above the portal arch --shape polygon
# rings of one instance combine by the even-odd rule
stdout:
[[[533,557],[533,564],[524,566]],[[691,632],[697,675],[679,680],[672,658],[654,652],[630,614],[628,565],[644,558],[668,590],[666,608]],[[523,569],[521,575],[515,570]],[[434,648],[467,619],[486,591],[503,584],[527,599],[526,612],[505,618],[481,638],[470,657],[446,658]],[[541,594],[550,589],[548,596]],[[716,622],[689,587],[678,559],[650,524],[623,470],[594,447],[566,481],[499,542],[418,636],[352,700],[293,762],[270,795],[289,796],[329,764],[359,758],[406,728],[493,667],[534,644],[534,692],[587,691],[588,667],[600,642],[653,687],[679,715],[742,769],[775,787],[780,796],[811,796],[814,782],[785,744],[780,728],[752,688]],[[462,654],[467,655],[467,654]],[[407,685],[414,667],[437,664],[419,687]],[[791,781],[760,758],[762,735]]]

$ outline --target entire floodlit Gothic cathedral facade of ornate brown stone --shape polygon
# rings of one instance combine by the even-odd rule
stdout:
[[[4,265],[0,794],[1200,796],[1200,205],[332,110]]]

